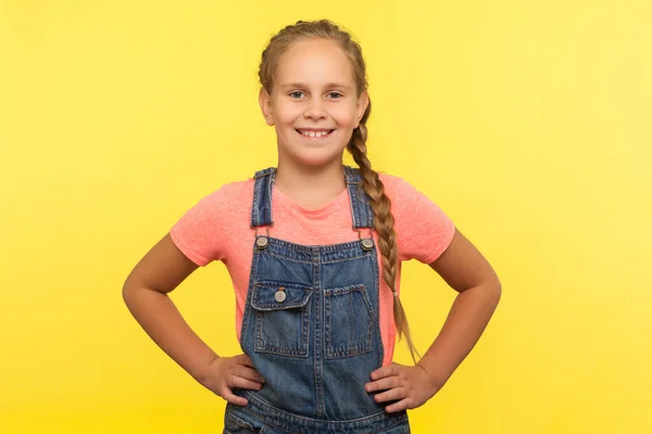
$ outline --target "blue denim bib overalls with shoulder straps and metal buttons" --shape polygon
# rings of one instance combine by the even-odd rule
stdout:
[[[358,169],[344,166],[360,239],[299,245],[269,237],[275,169],[255,174],[256,229],[240,345],[265,383],[235,388],[224,433],[410,433],[405,411],[388,413],[364,390],[383,365],[374,217]],[[265,228],[260,234],[258,228]]]

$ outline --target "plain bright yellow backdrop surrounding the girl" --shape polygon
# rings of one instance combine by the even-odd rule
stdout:
[[[199,199],[276,163],[260,54],[321,17],[363,46],[375,168],[438,203],[503,282],[413,432],[652,432],[644,0],[0,1],[0,432],[221,432],[224,401],[121,289]],[[402,288],[425,350],[454,292],[417,263]],[[173,298],[238,352],[221,264]]]

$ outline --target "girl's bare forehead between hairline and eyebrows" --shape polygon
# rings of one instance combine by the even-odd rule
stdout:
[[[354,86],[353,66],[340,46],[328,39],[294,42],[279,59],[275,72],[279,85],[347,82]]]

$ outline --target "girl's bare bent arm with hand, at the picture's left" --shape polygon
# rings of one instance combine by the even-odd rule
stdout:
[[[167,295],[197,268],[166,234],[129,273],[123,298],[147,334],[195,380],[230,403],[246,405],[230,387],[259,390],[264,382],[249,357],[217,356]]]

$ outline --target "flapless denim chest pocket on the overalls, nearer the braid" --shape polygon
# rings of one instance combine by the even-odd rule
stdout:
[[[324,316],[327,359],[372,350],[376,316],[365,285],[324,290]]]

